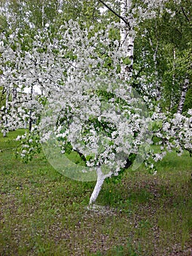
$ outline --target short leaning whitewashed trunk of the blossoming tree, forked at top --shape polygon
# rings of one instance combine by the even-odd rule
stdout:
[[[96,186],[93,189],[93,193],[90,197],[89,204],[95,203],[96,198],[98,197],[99,192],[101,191],[101,187],[102,187],[102,184],[104,183],[105,178],[112,176],[112,172],[104,175],[104,173],[102,173],[101,167],[97,167],[96,174],[97,174]]]

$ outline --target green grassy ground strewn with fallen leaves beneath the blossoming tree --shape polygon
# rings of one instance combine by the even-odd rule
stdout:
[[[128,170],[105,182],[87,208],[94,182],[61,176],[42,154],[18,162],[18,130],[0,137],[0,255],[192,254],[192,160],[169,154],[152,176]]]

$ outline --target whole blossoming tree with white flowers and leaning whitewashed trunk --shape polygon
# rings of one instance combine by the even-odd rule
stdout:
[[[55,31],[46,23],[34,37],[14,31],[1,34],[1,85],[10,89],[40,86],[42,95],[7,98],[1,108],[1,129],[17,128],[26,118],[36,125],[20,143],[20,158],[31,159],[42,147],[60,173],[81,181],[96,180],[95,202],[105,178],[117,176],[131,164],[153,168],[166,148],[191,151],[191,110],[173,118],[148,113],[142,97],[122,79],[129,64],[125,45],[114,39],[119,23],[105,29],[69,20]],[[25,43],[28,42],[28,47]],[[25,45],[25,47],[23,47]],[[27,116],[29,115],[29,116]],[[160,138],[161,154],[153,154],[153,136]],[[67,155],[75,151],[83,165]]]

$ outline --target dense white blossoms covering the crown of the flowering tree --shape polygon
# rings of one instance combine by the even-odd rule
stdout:
[[[144,143],[144,138],[145,143],[152,144],[153,140],[147,130],[151,129],[149,124],[153,122],[157,123],[157,127],[160,126],[155,130],[155,135],[166,139],[169,150],[179,148],[181,151],[183,147],[190,149],[191,123],[187,117],[177,114],[172,119],[166,118],[166,115],[160,113],[158,109],[151,118],[143,115],[146,111],[143,105],[137,107],[137,101],[134,102],[128,94],[128,85],[120,82],[118,67],[122,64],[125,52],[118,42],[113,42],[110,48],[112,39],[109,33],[112,26],[118,28],[118,24],[114,23],[107,26],[105,31],[94,31],[93,27],[81,29],[78,23],[70,20],[69,23],[61,26],[58,34],[55,34],[51,40],[49,28],[45,26],[44,31],[39,31],[34,37],[31,50],[29,48],[24,51],[18,31],[9,37],[7,45],[4,45],[2,38],[1,45],[4,45],[4,52],[1,55],[1,63],[3,61],[7,65],[4,65],[1,84],[9,88],[13,85],[17,85],[18,88],[25,86],[29,89],[31,86],[39,86],[43,91],[42,97],[23,94],[20,91],[18,102],[14,105],[12,102],[9,104],[9,112],[6,115],[7,128],[17,127],[28,118],[36,120],[44,108],[42,99],[47,98],[50,110],[59,113],[59,117],[63,118],[63,123],[54,128],[56,138],[62,138],[62,146],[68,141],[74,150],[80,151],[85,156],[90,152],[95,154],[87,161],[87,165],[102,163],[109,165],[109,159],[112,159],[112,162],[116,162],[116,168],[123,167],[125,159],[123,162],[118,162],[113,152],[123,151],[128,157],[131,153],[139,152],[139,146]],[[25,37],[29,36],[26,34]],[[41,38],[47,40],[42,42]],[[13,42],[16,50],[12,50]],[[9,64],[8,59],[11,60]],[[105,67],[106,59],[110,59],[112,69]],[[104,99],[103,93],[112,95],[108,97],[106,94],[104,97],[108,98]],[[115,103],[117,99],[126,100],[126,104]],[[147,101],[146,96],[145,101]],[[1,108],[1,115],[2,120],[5,120],[4,108]],[[191,110],[188,110],[188,115],[191,116]],[[90,118],[94,119],[93,117],[98,121],[97,126],[94,125],[94,120],[92,124],[89,123]],[[58,116],[51,113],[35,129],[35,132],[38,129],[43,131],[42,141],[50,138],[53,131],[47,130],[46,127],[49,125],[53,127],[56,123],[55,118]],[[107,127],[102,130],[101,124],[105,120]],[[1,126],[4,126],[3,122]],[[62,130],[62,127],[65,128]],[[103,132],[108,132],[108,135],[103,135]],[[147,138],[146,134],[148,134]],[[171,138],[175,139],[169,142]],[[101,150],[101,139],[104,151]],[[163,154],[161,157],[155,155],[155,159],[161,159],[162,156]],[[111,165],[114,167],[114,163]]]

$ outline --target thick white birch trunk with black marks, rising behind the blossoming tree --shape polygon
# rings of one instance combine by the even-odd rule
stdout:
[[[120,0],[120,16],[125,20],[127,19],[130,8],[131,0]],[[130,61],[130,64],[124,64],[121,67],[121,78],[123,80],[128,80],[131,78],[134,61],[134,34],[130,19],[128,20],[128,23],[129,26],[122,19],[120,20],[120,44],[123,46],[126,57],[128,57]]]

